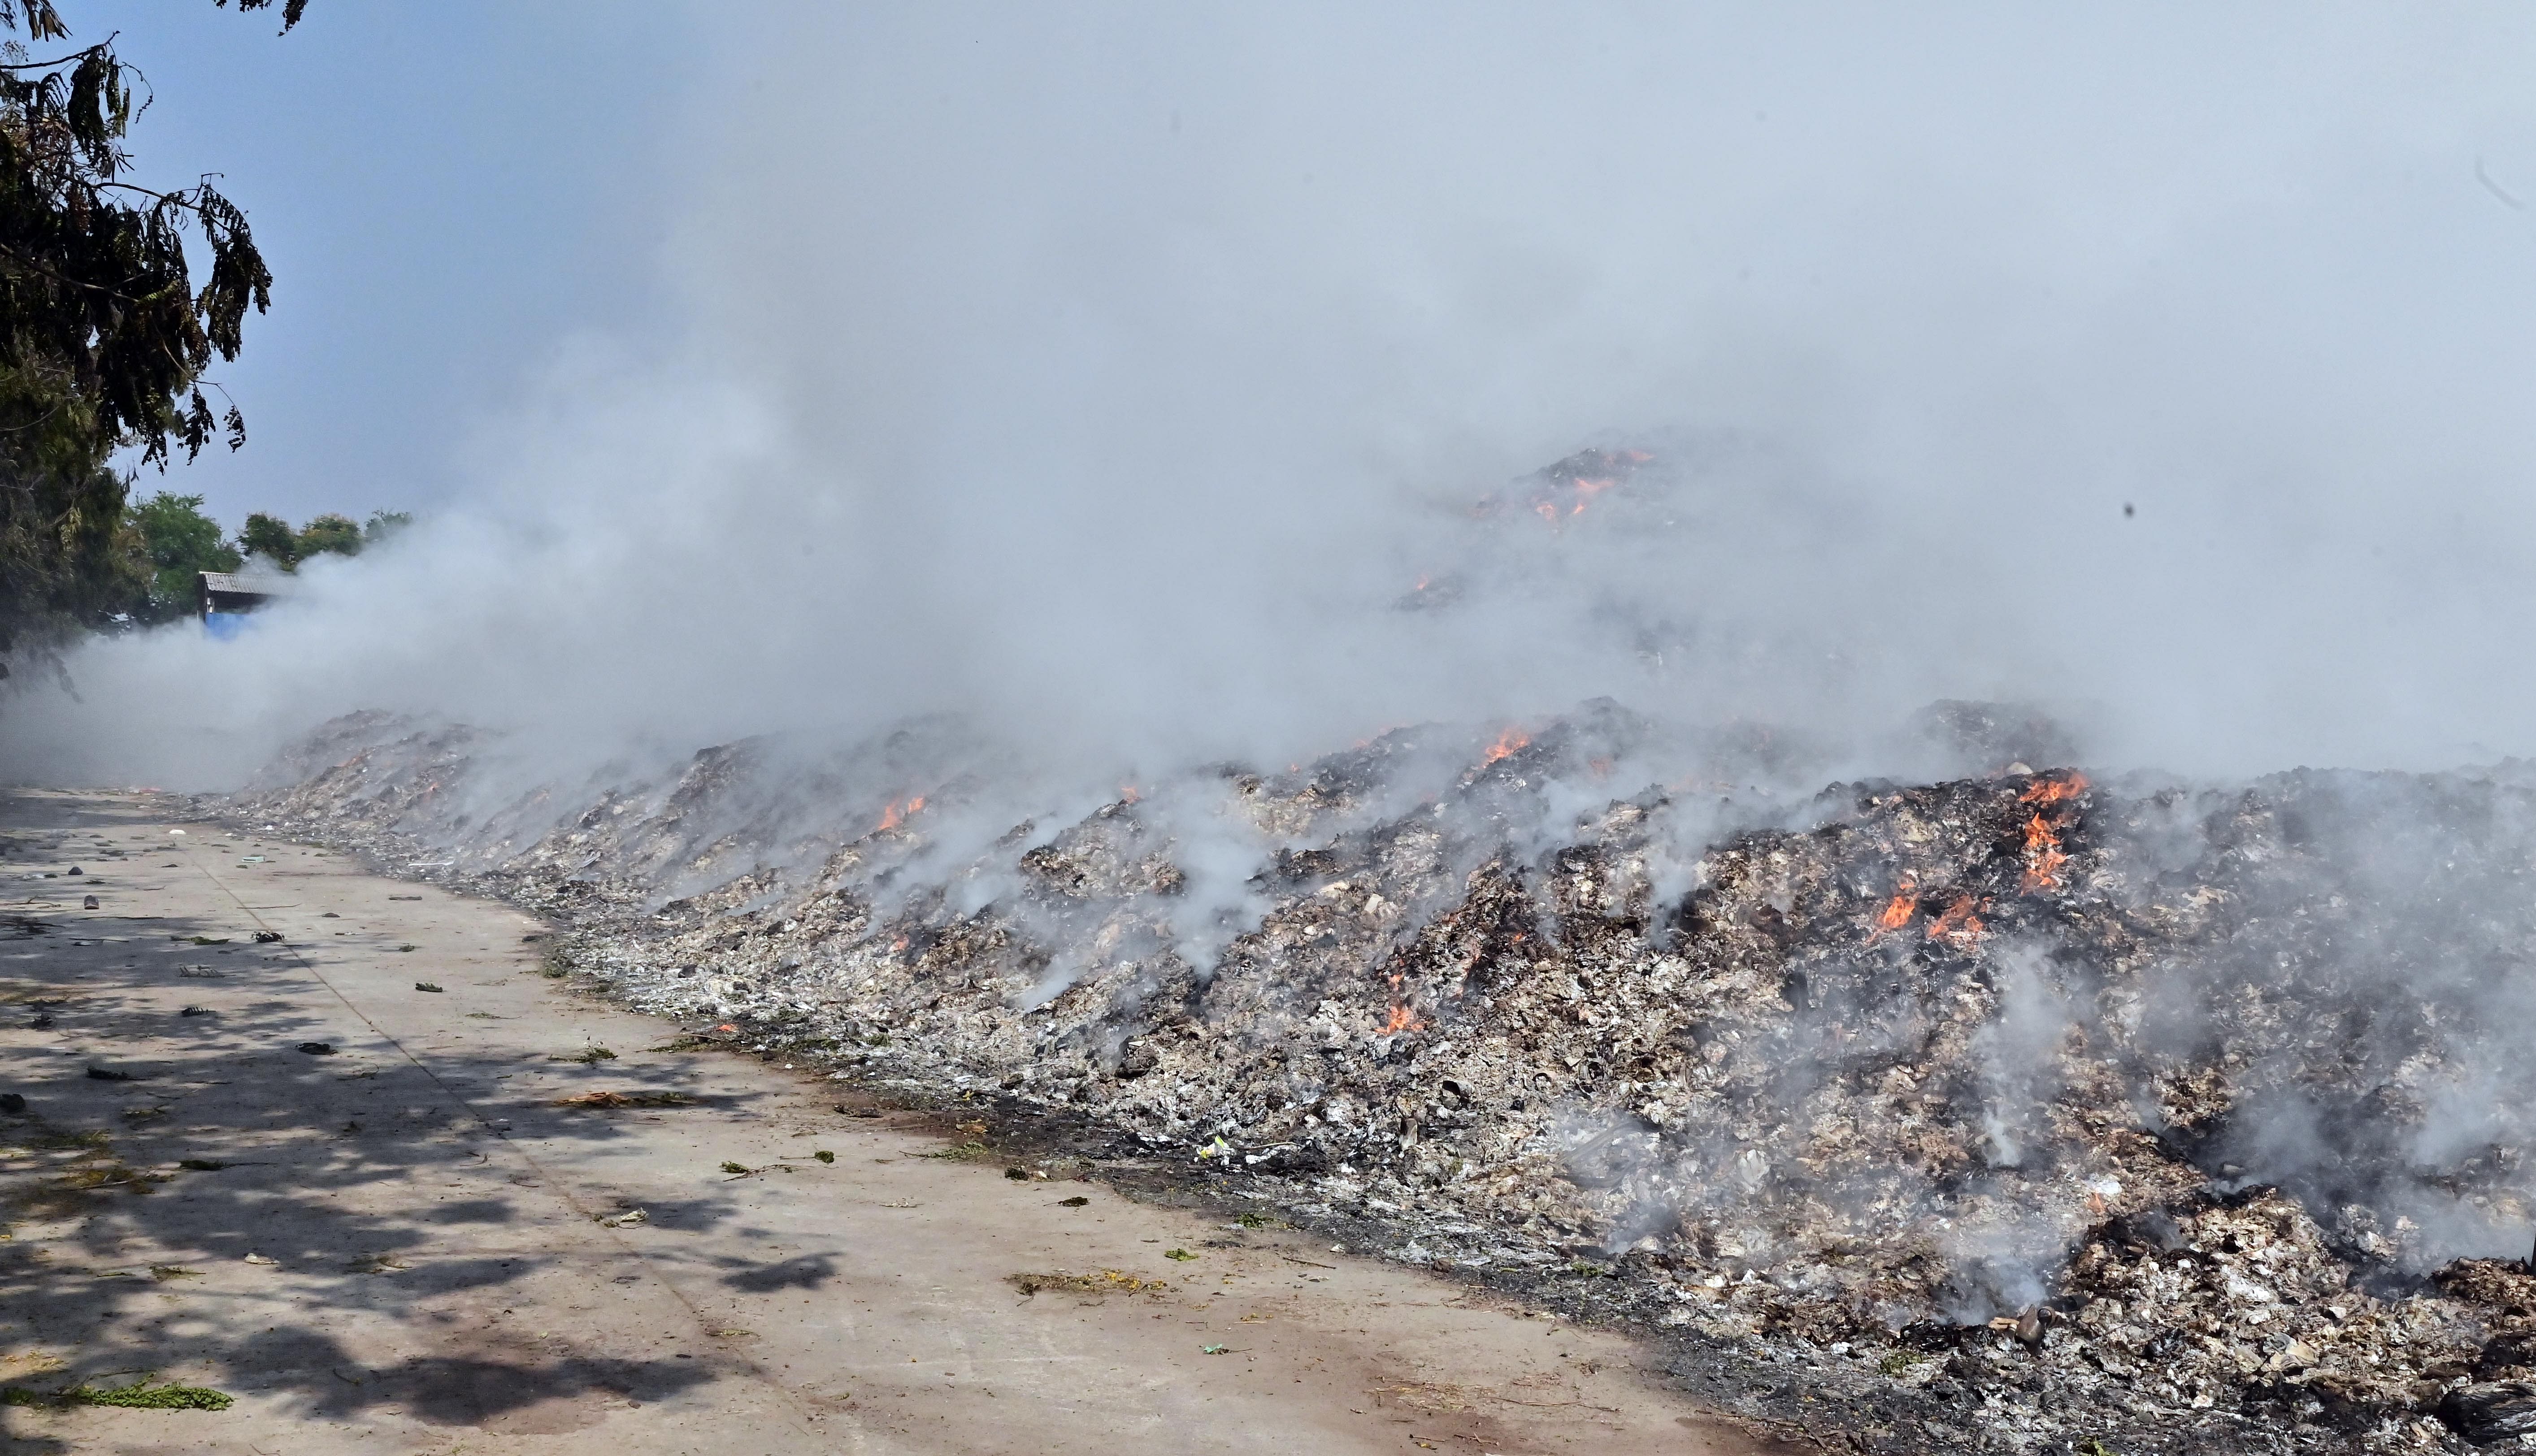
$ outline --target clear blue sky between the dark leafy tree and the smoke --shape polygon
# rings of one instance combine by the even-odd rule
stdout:
[[[431,510],[474,421],[558,340],[652,322],[662,132],[700,51],[682,8],[639,0],[66,0],[76,41],[157,94],[137,180],[221,172],[274,269],[274,309],[213,375],[238,454],[137,490],[249,510]]]

